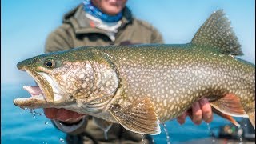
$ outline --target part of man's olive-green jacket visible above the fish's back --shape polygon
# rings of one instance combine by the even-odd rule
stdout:
[[[69,50],[78,46],[120,45],[131,43],[163,43],[162,35],[153,26],[134,18],[130,10],[124,9],[122,26],[111,41],[106,30],[90,27],[82,6],[65,14],[62,26],[54,30],[46,40],[46,52]]]

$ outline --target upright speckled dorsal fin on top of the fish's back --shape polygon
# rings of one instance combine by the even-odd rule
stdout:
[[[210,15],[194,35],[192,43],[199,46],[213,46],[222,54],[242,55],[241,45],[223,10],[217,10]]]

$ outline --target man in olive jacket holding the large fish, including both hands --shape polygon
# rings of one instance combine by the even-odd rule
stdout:
[[[105,17],[96,15],[97,10],[101,11]],[[71,22],[71,24],[68,24],[68,22]],[[134,22],[135,24],[133,24]],[[84,31],[76,32],[82,29]],[[103,32],[104,35],[98,31]],[[134,31],[135,33],[131,35]],[[76,37],[80,36],[81,38],[78,39],[73,35],[76,35]],[[150,37],[147,38],[146,35]],[[95,37],[97,37],[97,41],[94,41]],[[78,6],[75,10],[66,14],[64,24],[50,34],[50,37],[47,39],[46,53],[57,50],[69,50],[78,46],[122,45],[122,42],[124,44],[125,42],[128,42],[127,44],[129,42],[162,43],[163,40],[161,34],[154,27],[146,22],[132,18],[129,9],[126,7],[126,0],[92,0],[91,2],[86,1],[83,6]],[[96,141],[103,137],[103,131],[92,122],[89,116],[66,109],[46,108],[44,111],[46,117],[53,119],[55,126],[63,132],[68,134],[86,134],[86,132],[83,132],[85,130],[87,133],[92,134]],[[194,102],[192,110],[188,110],[188,112],[178,117],[178,122],[181,124],[184,123],[187,115],[190,115],[190,118],[195,124],[200,124],[202,119],[206,122],[211,122],[212,112],[207,98],[202,98],[201,101]],[[64,126],[65,128],[63,128]],[[114,132],[116,128],[122,130],[116,130]],[[102,133],[98,134],[97,131],[102,131]],[[123,129],[122,126],[117,124],[114,124],[110,128],[109,133],[116,135],[114,138],[118,139],[117,135],[120,131],[122,131],[120,139],[127,139],[127,141],[134,142],[141,142],[142,140],[139,134],[132,134],[132,132]],[[126,138],[126,135],[130,135],[130,137]],[[74,137],[72,135],[68,136],[70,140],[77,139]],[[87,138],[90,139],[90,137]]]

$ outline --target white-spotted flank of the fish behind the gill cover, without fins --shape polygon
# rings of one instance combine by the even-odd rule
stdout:
[[[107,46],[97,50],[110,55],[118,70],[123,92],[116,101],[133,102],[136,98],[149,97],[161,122],[177,117],[191,102],[206,95],[234,93],[247,97],[245,103],[254,101],[249,91],[240,94],[242,90],[254,89],[254,66],[245,66],[228,55],[220,56],[211,48],[207,53],[206,47],[190,44],[118,49]]]

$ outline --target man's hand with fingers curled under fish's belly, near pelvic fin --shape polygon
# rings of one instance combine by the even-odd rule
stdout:
[[[207,123],[211,122],[213,120],[213,112],[208,99],[202,98],[198,102],[194,102],[191,109],[178,116],[178,123],[182,125],[185,122],[186,116],[190,116],[192,122],[196,125],[201,124],[202,119]]]

